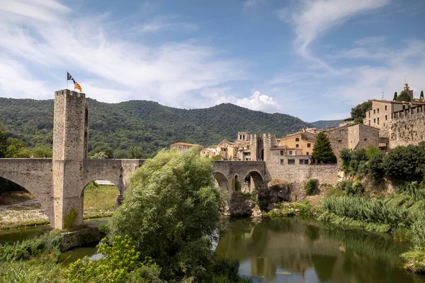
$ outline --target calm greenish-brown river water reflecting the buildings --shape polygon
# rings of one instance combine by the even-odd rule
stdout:
[[[106,220],[95,220],[99,224]],[[45,228],[0,233],[0,243],[32,238]],[[343,229],[300,218],[231,221],[216,243],[216,251],[240,261],[241,275],[266,282],[425,282],[425,277],[402,269],[399,255],[409,243],[397,243],[385,233]],[[96,248],[82,247],[62,255],[65,264]]]

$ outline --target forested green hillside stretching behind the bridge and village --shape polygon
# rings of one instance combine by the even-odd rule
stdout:
[[[270,132],[280,137],[312,126],[290,115],[232,104],[185,110],[146,100],[112,104],[90,99],[89,103],[89,151],[109,146],[115,158],[127,157],[134,148],[140,149],[140,158],[149,157],[176,141],[208,146],[225,137],[234,139],[238,131]],[[26,146],[51,146],[53,100],[0,98],[0,125]]]

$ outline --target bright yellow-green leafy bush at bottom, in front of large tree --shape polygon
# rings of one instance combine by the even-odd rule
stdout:
[[[130,237],[116,236],[112,246],[106,238],[102,242],[97,246],[102,258],[89,260],[86,256],[72,263],[63,272],[65,282],[162,282],[159,266],[152,260],[140,261],[140,252],[136,251]]]

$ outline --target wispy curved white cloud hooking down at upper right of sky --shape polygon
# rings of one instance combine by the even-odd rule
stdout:
[[[352,16],[374,8],[385,6],[390,0],[316,0],[302,1],[296,11],[289,8],[277,11],[282,21],[290,22],[295,26],[295,49],[305,59],[315,62],[318,67],[334,71],[318,57],[310,54],[309,47],[319,35],[344,23]]]

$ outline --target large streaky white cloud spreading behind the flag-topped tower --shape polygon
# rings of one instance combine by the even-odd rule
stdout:
[[[115,27],[108,15],[71,17],[71,9],[58,1],[36,2],[0,2],[0,58],[20,62],[15,68],[19,71],[3,71],[2,96],[28,91],[28,96],[39,93],[38,98],[45,98],[40,91],[30,94],[19,81],[38,83],[53,93],[68,70],[87,96],[94,91],[102,101],[152,99],[191,108],[198,105],[188,93],[246,76],[244,62],[225,58],[212,47],[194,41],[143,45],[126,39],[128,30]],[[36,79],[40,73],[49,74],[43,78],[49,81]]]

